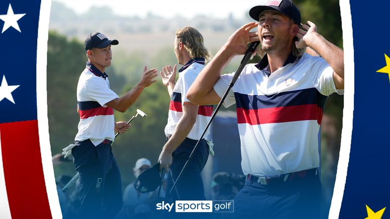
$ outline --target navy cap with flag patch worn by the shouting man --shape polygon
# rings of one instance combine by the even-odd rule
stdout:
[[[270,0],[265,5],[255,6],[249,10],[251,18],[258,21],[258,17],[265,11],[278,11],[289,17],[294,23],[301,26],[301,12],[290,0]]]

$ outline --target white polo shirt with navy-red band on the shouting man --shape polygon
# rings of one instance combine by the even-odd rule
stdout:
[[[304,54],[271,75],[248,64],[224,101],[237,105],[244,174],[276,176],[319,166],[319,127],[328,95],[336,90],[333,69],[320,57]],[[234,73],[214,85],[222,97]]]

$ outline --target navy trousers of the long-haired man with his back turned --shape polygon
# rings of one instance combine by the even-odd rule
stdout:
[[[167,181],[167,194],[171,191],[174,180],[176,180],[185,162],[188,160],[198,140],[185,138],[179,147],[172,153],[171,174]],[[201,172],[207,163],[209,150],[206,141],[199,142],[197,150],[181,174],[175,189],[167,196],[167,200],[205,200],[205,190]]]

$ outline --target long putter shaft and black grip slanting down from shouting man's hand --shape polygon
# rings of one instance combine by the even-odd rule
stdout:
[[[195,144],[195,147],[193,147],[192,152],[191,152],[191,154],[190,154],[189,157],[188,157],[188,160],[185,162],[183,168],[181,169],[179,175],[177,176],[177,178],[176,178],[176,180],[175,180],[175,182],[174,182],[174,184],[173,184],[171,190],[169,191],[169,194],[171,194],[171,192],[172,192],[173,189],[175,188],[176,183],[177,183],[177,181],[179,180],[181,174],[183,173],[184,169],[187,167],[188,162],[192,159],[195,150],[197,150],[199,142],[202,140],[202,138],[203,138],[203,136],[205,135],[207,129],[209,128],[211,122],[213,121],[215,115],[218,113],[219,108],[221,107],[223,101],[225,100],[226,96],[228,96],[229,91],[232,89],[234,83],[236,83],[238,77],[240,76],[242,69],[244,69],[246,63],[248,63],[249,58],[252,56],[254,50],[257,48],[257,46],[258,46],[259,44],[260,44],[260,42],[259,42],[259,41],[256,41],[256,42],[252,42],[252,43],[249,45],[249,47],[248,47],[248,49],[246,50],[245,55],[244,55],[244,57],[243,57],[243,59],[242,59],[240,65],[239,65],[238,68],[237,68],[237,71],[236,71],[235,75],[233,76],[232,81],[231,81],[230,84],[229,84],[228,89],[226,89],[225,93],[223,94],[223,97],[221,98],[221,100],[219,101],[217,107],[215,108],[215,111],[214,111],[213,114],[211,115],[210,121],[207,123],[206,128],[203,130],[203,133],[202,133],[201,137],[199,138],[197,144]],[[172,179],[173,179],[173,178],[172,178]]]

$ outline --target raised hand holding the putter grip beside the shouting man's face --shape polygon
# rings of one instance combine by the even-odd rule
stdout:
[[[230,50],[233,55],[243,55],[248,49],[248,44],[258,41],[257,32],[250,32],[249,30],[256,27],[258,22],[247,23],[234,32],[228,42],[226,42],[226,49]]]

